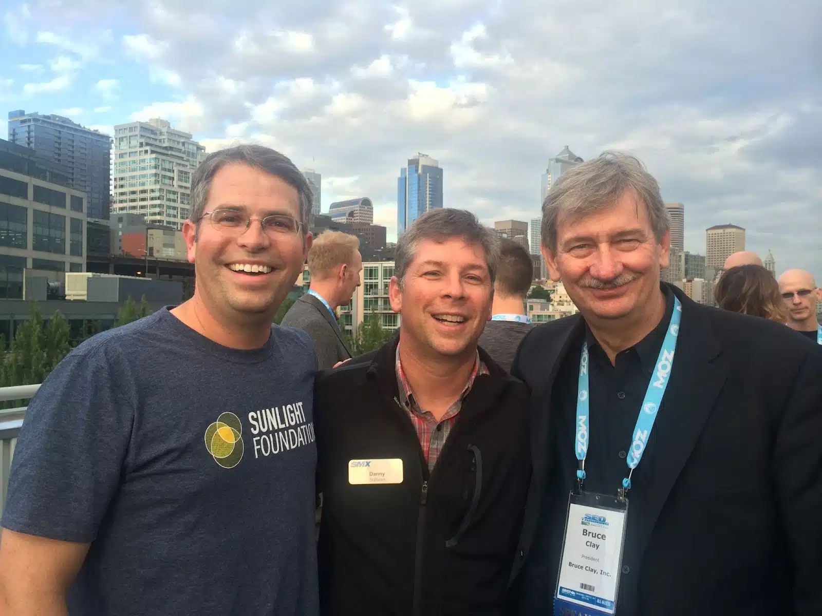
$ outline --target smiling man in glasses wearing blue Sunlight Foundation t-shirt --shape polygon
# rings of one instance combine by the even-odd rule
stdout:
[[[316,355],[271,325],[311,203],[271,149],[197,168],[194,297],[81,344],[31,401],[0,614],[316,614]]]

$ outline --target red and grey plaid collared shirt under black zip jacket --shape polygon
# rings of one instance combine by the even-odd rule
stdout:
[[[436,459],[440,457],[442,446],[446,444],[448,434],[450,434],[451,428],[454,427],[457,420],[459,409],[462,408],[462,401],[471,390],[473,381],[477,378],[477,375],[487,375],[488,368],[483,361],[480,360],[479,352],[477,352],[477,358],[473,362],[473,370],[469,376],[468,383],[465,384],[463,393],[459,395],[459,398],[454,404],[448,407],[446,414],[442,416],[440,421],[436,421],[430,411],[423,411],[413,397],[409,382],[405,379],[403,366],[399,363],[399,344],[397,345],[395,368],[397,384],[399,385],[399,403],[408,413],[414,430],[417,430],[419,444],[423,447],[423,457],[425,457],[425,461],[428,463],[428,471],[432,471],[436,464]]]

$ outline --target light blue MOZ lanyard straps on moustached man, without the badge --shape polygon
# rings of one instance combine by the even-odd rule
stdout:
[[[673,300],[673,314],[671,322],[668,324],[663,347],[659,349],[656,368],[651,375],[648,390],[640,407],[640,415],[636,418],[636,425],[630,444],[630,451],[626,457],[628,463],[628,476],[622,480],[620,495],[625,498],[625,494],[630,490],[630,476],[639,465],[645,446],[653,430],[653,421],[657,418],[657,411],[663,402],[665,388],[668,379],[671,378],[673,368],[673,354],[677,349],[677,336],[679,335],[679,324],[682,319],[682,306],[677,297]],[[580,356],[580,384],[576,397],[576,459],[579,460],[579,469],[576,471],[576,478],[579,482],[580,491],[582,482],[585,479],[585,457],[588,456],[588,441],[590,432],[589,402],[590,389],[588,382],[589,356],[588,342],[582,342],[582,356]]]

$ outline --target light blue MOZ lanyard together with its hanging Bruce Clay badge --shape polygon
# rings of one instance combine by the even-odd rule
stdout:
[[[602,616],[617,613],[617,595],[622,572],[622,549],[625,545],[630,476],[639,465],[653,421],[663,402],[677,348],[682,306],[674,297],[673,315],[663,346],[659,350],[656,370],[636,420],[630,452],[626,458],[628,472],[613,494],[584,492],[585,457],[589,442],[589,355],[583,342],[580,356],[580,384],[576,402],[575,451],[579,461],[577,489],[568,497],[565,536],[562,543],[559,575],[554,595],[555,616],[580,614]]]

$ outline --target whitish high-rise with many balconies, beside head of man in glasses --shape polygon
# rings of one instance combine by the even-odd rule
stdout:
[[[114,126],[112,211],[182,229],[191,215],[192,174],[205,148],[159,117]]]

